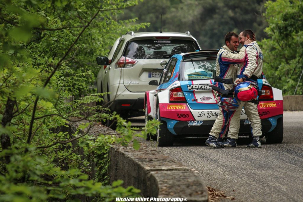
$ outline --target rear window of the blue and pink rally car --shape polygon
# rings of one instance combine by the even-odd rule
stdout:
[[[215,60],[189,60],[182,62],[182,81],[213,79],[216,75]]]

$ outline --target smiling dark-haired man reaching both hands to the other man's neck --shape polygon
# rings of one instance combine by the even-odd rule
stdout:
[[[253,40],[248,40],[246,43],[248,44]],[[233,79],[235,80],[236,71],[238,70],[238,65],[241,64],[245,60],[245,47],[242,47],[237,54],[237,49],[239,45],[239,38],[238,35],[234,32],[228,32],[225,35],[225,45],[219,50],[217,54],[217,61],[216,61],[216,76],[222,79]],[[214,86],[221,88],[223,90],[230,90],[233,86],[232,84],[223,84],[221,82],[215,82]],[[219,101],[218,92],[215,92],[215,98]],[[242,109],[242,106],[240,106]],[[237,124],[234,119],[232,118],[235,114],[235,111],[225,111],[222,108],[219,108],[220,113],[218,118],[216,119],[211,131],[209,133],[209,137],[205,144],[213,148],[223,148],[222,146],[218,145],[217,142],[222,142],[224,139],[222,138],[228,126],[233,126],[229,128],[228,134],[231,135],[233,138],[238,138],[238,131],[236,130]],[[240,114],[239,114],[240,116]],[[240,117],[239,117],[240,119]],[[238,122],[239,122],[238,119]],[[239,123],[240,124],[240,123]],[[235,129],[235,130],[234,130]]]

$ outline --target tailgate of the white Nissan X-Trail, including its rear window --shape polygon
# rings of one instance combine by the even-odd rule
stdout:
[[[160,63],[166,63],[167,56],[197,49],[198,44],[191,38],[134,38],[128,42],[123,55],[126,61],[131,61],[135,65],[131,65],[132,67],[126,65],[123,68],[123,83],[131,92],[154,90],[155,87],[148,85],[148,82],[159,81],[164,69]]]

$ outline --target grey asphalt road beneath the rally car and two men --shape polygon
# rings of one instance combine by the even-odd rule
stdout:
[[[236,148],[213,149],[205,145],[206,138],[183,138],[176,141],[173,147],[157,149],[197,172],[206,186],[235,197],[234,201],[301,202],[302,117],[303,111],[284,112],[282,144],[266,144],[263,138],[261,148],[247,148],[250,140],[240,137]],[[142,125],[142,121],[135,125]],[[145,142],[156,147],[149,141]]]

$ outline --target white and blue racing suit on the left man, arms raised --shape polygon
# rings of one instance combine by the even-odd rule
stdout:
[[[218,55],[217,55],[216,76],[223,78],[223,79],[231,78],[234,81],[235,76],[236,76],[236,71],[238,69],[238,65],[235,65],[235,64],[241,64],[244,61],[245,61],[245,47],[242,47],[239,51],[239,54],[237,54],[237,52],[231,51],[226,45],[224,45],[219,50]],[[221,88],[223,90],[232,89],[232,84],[223,84],[221,82],[215,82],[214,86]],[[216,92],[216,91],[214,91],[214,92],[215,92],[214,94],[215,94],[217,101],[219,101],[218,92]],[[242,107],[243,107],[243,105],[242,105]],[[242,107],[241,107],[241,109],[242,109]],[[231,134],[231,136],[238,137],[239,127],[240,127],[239,120],[240,120],[241,112],[239,113],[238,123],[236,123],[237,118],[233,118],[236,111],[225,111],[225,110],[222,110],[222,108],[220,108],[220,107],[219,107],[219,110],[220,110],[220,113],[218,115],[218,118],[216,119],[209,134],[216,138],[223,137],[226,133],[227,128],[229,127],[228,134]],[[236,117],[237,117],[237,115],[236,115]],[[237,130],[237,128],[238,128],[238,130]]]

